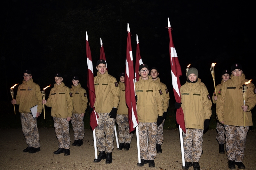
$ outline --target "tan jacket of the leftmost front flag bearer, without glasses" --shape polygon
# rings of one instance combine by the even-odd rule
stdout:
[[[97,72],[97,76],[94,77],[94,88],[94,107],[97,113],[110,113],[113,107],[118,108],[120,89],[116,78],[109,75],[108,71],[105,74]]]

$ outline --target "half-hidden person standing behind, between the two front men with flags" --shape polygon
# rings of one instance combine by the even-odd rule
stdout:
[[[122,72],[119,74],[119,89],[120,89],[120,102],[117,109],[116,123],[118,124],[118,140],[119,148],[117,150],[128,151],[130,149],[132,141],[132,133],[130,133],[129,121],[128,121],[128,107],[125,103],[125,85],[124,85],[124,75]]]

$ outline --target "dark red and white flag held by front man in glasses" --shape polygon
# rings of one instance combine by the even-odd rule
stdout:
[[[130,132],[134,131],[134,128],[139,124],[138,117],[137,117],[133,73],[134,73],[134,70],[133,70],[133,59],[132,59],[131,33],[130,33],[129,24],[128,24],[124,84],[125,84],[125,102],[128,106]]]

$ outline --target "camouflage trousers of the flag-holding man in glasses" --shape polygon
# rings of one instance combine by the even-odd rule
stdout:
[[[140,157],[141,159],[154,160],[156,158],[156,122],[139,122],[138,128],[140,140]]]

